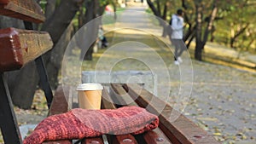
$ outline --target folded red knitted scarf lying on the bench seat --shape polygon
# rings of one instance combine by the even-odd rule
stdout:
[[[158,127],[159,118],[141,107],[121,107],[109,110],[73,109],[45,118],[24,144],[44,141],[82,139],[103,134],[141,134]]]

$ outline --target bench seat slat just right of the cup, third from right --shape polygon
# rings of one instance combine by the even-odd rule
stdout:
[[[116,107],[113,105],[112,96],[108,95],[108,91],[106,89],[102,90],[102,108],[105,109],[115,109]],[[126,135],[108,135],[108,141],[111,144],[137,144],[136,139],[131,134]]]

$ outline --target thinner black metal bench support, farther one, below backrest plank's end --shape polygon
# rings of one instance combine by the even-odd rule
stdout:
[[[53,94],[51,88],[49,86],[49,80],[46,73],[46,69],[44,67],[44,60],[42,56],[39,56],[36,60],[36,65],[38,68],[38,74],[40,77],[40,83],[42,84],[42,89],[44,90],[44,95],[46,97],[47,106],[50,107],[51,101],[53,99]]]

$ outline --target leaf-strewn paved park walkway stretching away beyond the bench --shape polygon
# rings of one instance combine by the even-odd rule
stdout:
[[[160,38],[161,29],[152,21],[155,19],[143,13],[146,8],[132,3],[118,14],[111,45],[100,58],[105,63],[99,69],[109,66],[112,70],[154,72],[157,95],[219,141],[256,141],[255,73],[187,57],[181,66],[175,66],[172,46],[166,47],[170,42]]]

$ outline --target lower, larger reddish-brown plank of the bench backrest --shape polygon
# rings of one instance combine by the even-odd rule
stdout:
[[[6,28],[0,30],[0,72],[20,69],[51,49],[48,32]]]

